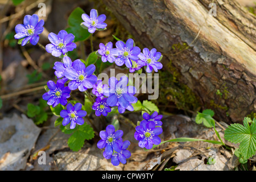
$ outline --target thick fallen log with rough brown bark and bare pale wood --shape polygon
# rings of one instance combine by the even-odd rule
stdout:
[[[135,42],[164,55],[216,119],[242,122],[256,112],[256,19],[236,1],[216,0],[102,0]],[[189,48],[172,49],[186,43]],[[217,94],[220,90],[222,97]]]

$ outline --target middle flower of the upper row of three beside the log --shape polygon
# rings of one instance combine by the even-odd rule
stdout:
[[[125,64],[127,68],[131,68],[131,60],[137,61],[139,59],[138,55],[141,52],[141,49],[134,46],[133,39],[128,39],[126,43],[119,40],[117,43],[115,43],[115,47],[117,48],[111,49],[111,53],[112,55],[117,56],[115,58],[115,64],[118,66]]]

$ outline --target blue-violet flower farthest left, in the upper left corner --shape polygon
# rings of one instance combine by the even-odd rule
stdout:
[[[23,24],[17,24],[15,26],[15,32],[14,35],[15,39],[22,39],[22,46],[24,46],[28,40],[30,40],[30,43],[35,46],[35,44],[38,43],[39,40],[39,34],[41,34],[44,30],[44,20],[39,20],[38,15],[26,15],[24,16]]]

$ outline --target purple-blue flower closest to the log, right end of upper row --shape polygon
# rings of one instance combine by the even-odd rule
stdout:
[[[158,69],[163,68],[163,64],[158,61],[161,56],[161,53],[156,52],[155,48],[152,48],[151,51],[148,48],[144,48],[143,53],[141,52],[138,55],[139,59],[147,66],[146,72],[148,73],[151,73],[153,69],[155,72],[158,72]]]

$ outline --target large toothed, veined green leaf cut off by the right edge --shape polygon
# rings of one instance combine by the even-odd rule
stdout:
[[[251,123],[251,125],[249,125]],[[224,138],[232,143],[240,143],[239,150],[244,159],[249,159],[255,155],[256,151],[256,120],[250,118],[243,119],[243,125],[239,123],[231,124],[224,134]]]

